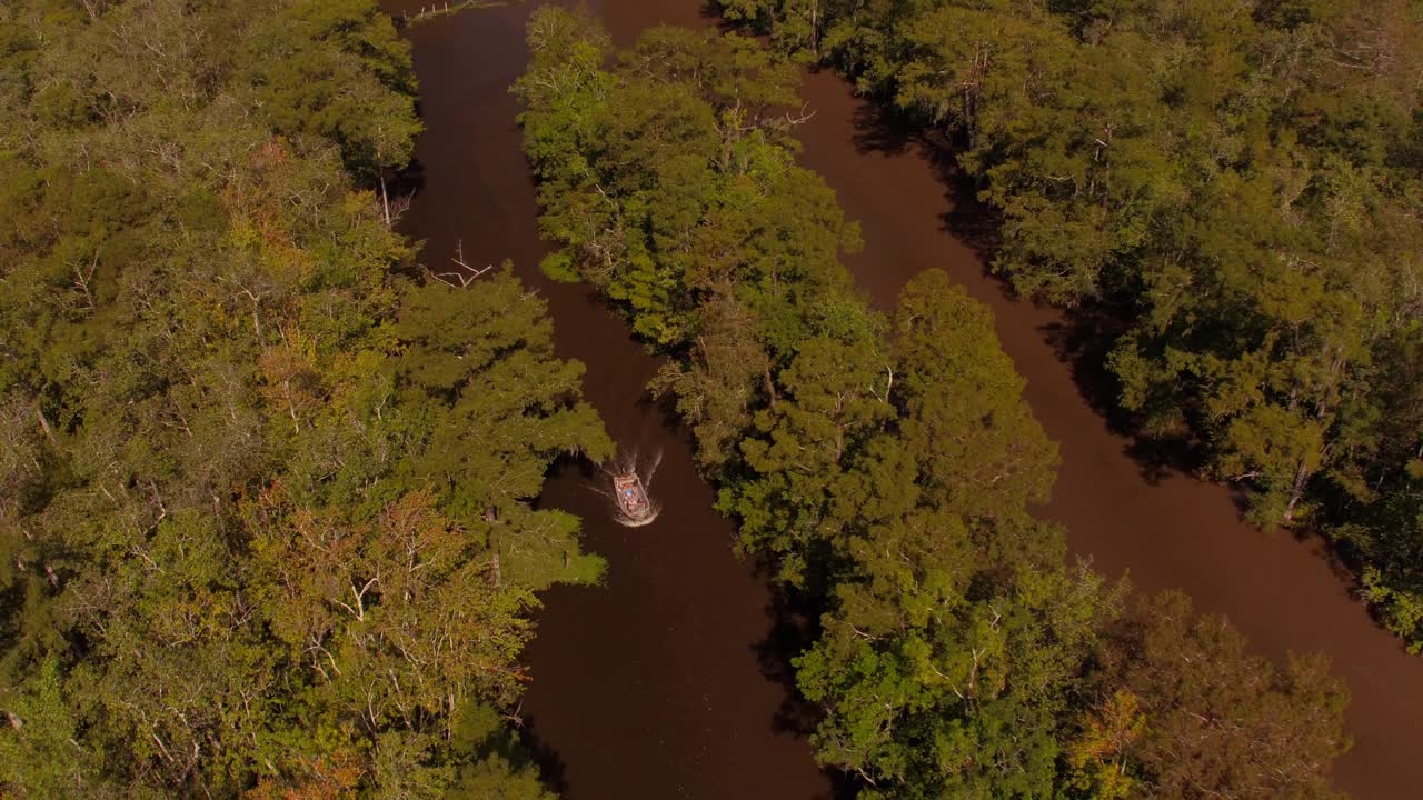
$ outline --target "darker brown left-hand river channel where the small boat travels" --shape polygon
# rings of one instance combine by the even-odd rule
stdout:
[[[467,11],[408,31],[427,131],[416,151],[423,188],[403,228],[427,241],[431,265],[461,241],[470,265],[514,259],[549,305],[558,354],[588,364],[585,397],[623,456],[660,454],[649,493],[663,511],[625,528],[599,491],[605,475],[572,467],[551,477],[541,502],[578,514],[585,548],[609,568],[602,586],[544,592],[525,653],[525,733],[566,800],[830,797],[830,779],[784,713],[774,643],[783,609],[733,555],[733,525],[713,511],[686,437],[647,400],[657,360],[588,288],[552,283],[536,269],[546,248],[508,93],[527,64],[531,10]],[[660,9],[635,3],[595,10],[616,20],[619,38],[663,21]]]

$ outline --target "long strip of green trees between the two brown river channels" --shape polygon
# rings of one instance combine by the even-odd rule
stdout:
[[[989,310],[936,270],[888,316],[855,293],[857,226],[794,161],[798,67],[680,28],[615,51],[548,7],[528,41],[542,268],[672,356],[653,389],[740,548],[824,611],[795,660],[822,764],[867,799],[1336,796],[1346,690],[1321,658],[1128,602],[1029,514],[1056,447]]]

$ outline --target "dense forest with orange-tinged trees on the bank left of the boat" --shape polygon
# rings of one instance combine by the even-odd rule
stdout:
[[[0,6],[0,796],[548,797],[501,715],[601,562],[527,500],[610,443],[391,232],[414,91],[371,0]]]

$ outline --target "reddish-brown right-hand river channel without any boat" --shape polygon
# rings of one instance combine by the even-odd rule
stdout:
[[[1027,379],[1027,401],[1063,465],[1047,520],[1067,528],[1076,554],[1107,575],[1130,574],[1143,591],[1183,589],[1201,611],[1224,614],[1261,652],[1321,651],[1349,680],[1353,749],[1336,783],[1358,799],[1423,791],[1423,659],[1379,628],[1318,541],[1245,524],[1229,490],[1184,475],[1111,430],[1060,349],[1067,322],[1054,309],[1007,295],[968,243],[975,219],[955,214],[946,154],[895,135],[872,104],[830,71],[808,77],[801,97],[815,117],[800,128],[801,161],[835,188],[862,225],[865,249],[847,263],[877,307],[892,305],[911,276],[948,270],[993,309],[1003,349]]]

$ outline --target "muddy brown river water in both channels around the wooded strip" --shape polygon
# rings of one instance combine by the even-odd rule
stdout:
[[[384,6],[414,11],[420,1]],[[650,525],[625,528],[593,488],[606,478],[565,468],[549,481],[541,502],[582,517],[586,547],[609,569],[603,586],[542,595],[527,652],[529,742],[569,800],[831,797],[784,682],[777,642],[785,615],[733,557],[733,528],[712,510],[713,490],[696,475],[686,436],[647,401],[656,360],[585,289],[538,273],[548,248],[508,93],[527,61],[531,6],[410,30],[427,132],[416,152],[423,188],[403,223],[427,241],[431,265],[447,263],[457,242],[471,265],[514,259],[549,303],[559,354],[588,364],[585,393],[609,433],[645,463],[660,456],[649,491],[663,511]],[[619,44],[663,21],[706,24],[699,0],[591,6]],[[1128,571],[1144,589],[1185,589],[1266,655],[1329,653],[1353,693],[1355,747],[1336,783],[1360,799],[1423,796],[1423,759],[1414,756],[1423,659],[1373,625],[1316,545],[1245,525],[1227,490],[1148,463],[1111,431],[1062,353],[1060,316],[1005,296],[961,238],[966,215],[953,214],[942,158],[878,125],[828,73],[810,75],[803,95],[817,111],[801,128],[803,162],[864,225],[865,251],[848,263],[872,302],[891,306],[905,280],[938,266],[993,307],[1033,411],[1062,443],[1062,474],[1042,512],[1067,527],[1074,552],[1109,574]]]

